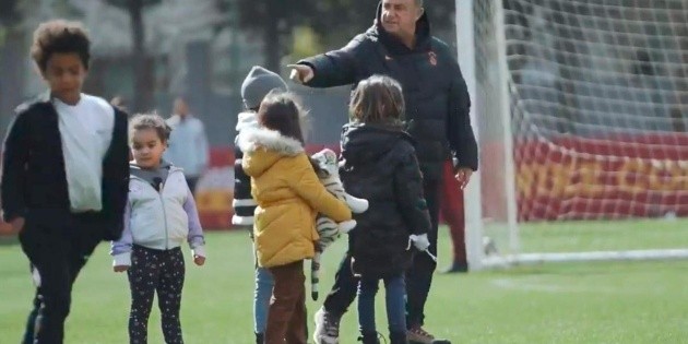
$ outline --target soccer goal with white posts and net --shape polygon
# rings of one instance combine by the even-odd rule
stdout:
[[[688,2],[456,0],[472,269],[688,258]]]

